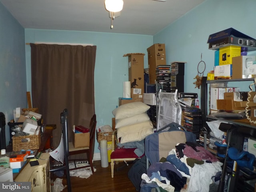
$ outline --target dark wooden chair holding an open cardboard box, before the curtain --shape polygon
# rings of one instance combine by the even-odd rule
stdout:
[[[89,147],[81,147],[81,148],[74,148],[74,145],[72,142],[69,142],[69,156],[71,155],[76,155],[76,154],[84,154],[86,153],[87,159],[69,159],[70,161],[73,161],[75,164],[75,168],[71,168],[69,170],[76,170],[76,169],[81,169],[81,168],[87,168],[90,167],[92,170],[92,173],[94,173],[93,170],[93,165],[92,165],[92,159],[93,159],[93,154],[94,154],[94,143],[95,143],[95,129],[96,129],[96,114],[94,114],[90,120],[90,146]],[[76,162],[81,162],[88,160],[87,166],[81,166],[81,167],[76,167]]]

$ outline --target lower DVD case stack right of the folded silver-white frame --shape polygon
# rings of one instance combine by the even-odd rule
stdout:
[[[202,128],[201,111],[183,111],[183,118],[183,126],[186,128],[186,130],[193,132],[196,135],[196,140],[199,141],[200,130]]]

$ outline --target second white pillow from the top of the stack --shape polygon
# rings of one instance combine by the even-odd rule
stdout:
[[[120,127],[133,125],[136,123],[142,123],[142,122],[145,122],[148,120],[150,120],[150,118],[149,118],[148,114],[146,112],[144,112],[144,113],[138,114],[136,116],[132,116],[132,117],[124,118],[124,119],[117,119],[115,128],[117,129]]]

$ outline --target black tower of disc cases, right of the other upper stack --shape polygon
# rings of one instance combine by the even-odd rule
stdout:
[[[171,63],[171,92],[175,92],[176,89],[178,92],[184,92],[184,64],[185,62]]]

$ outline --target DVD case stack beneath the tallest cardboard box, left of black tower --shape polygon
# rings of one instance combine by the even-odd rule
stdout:
[[[171,78],[170,65],[158,65],[156,67],[156,82],[160,84],[163,92],[171,92],[170,78]]]

